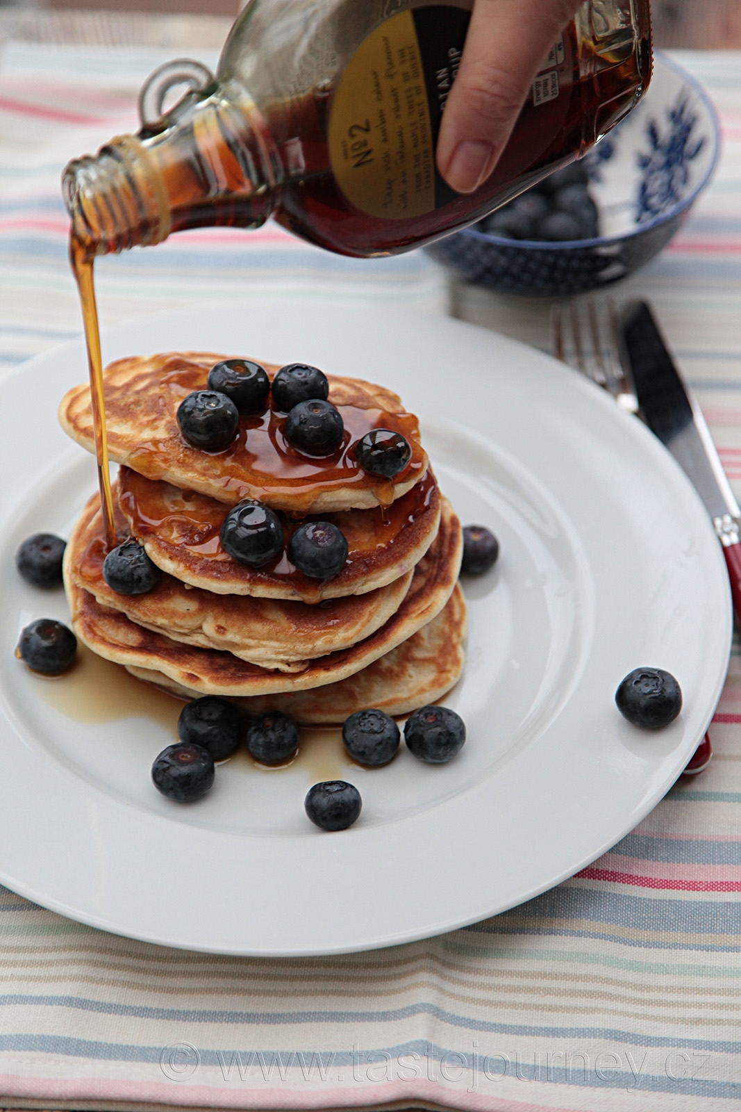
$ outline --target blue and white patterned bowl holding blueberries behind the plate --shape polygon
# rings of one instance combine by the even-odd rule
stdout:
[[[718,113],[702,87],[654,57],[643,100],[587,158],[602,235],[553,244],[478,227],[428,248],[460,278],[528,297],[582,294],[624,278],[662,250],[720,156]]]

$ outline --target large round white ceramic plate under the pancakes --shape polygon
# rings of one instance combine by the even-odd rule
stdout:
[[[86,375],[80,342],[0,383],[0,880],[64,915],[173,946],[339,953],[407,942],[503,911],[630,831],[677,778],[720,695],[731,616],[725,569],[684,475],[638,420],[545,356],[458,321],[300,299],[250,301],[111,329],[107,359],[167,349],[302,360],[398,390],[422,417],[441,486],[501,557],[465,585],[468,663],[448,703],[468,741],[449,765],[403,749],[346,763],[314,734],[288,771],[243,757],[178,805],[152,787],[171,701],[112,665],[41,679],[19,629],[64,617],[23,584],[20,542],[69,529],[90,457],[56,423]],[[613,694],[641,665],[672,672],[667,729],[624,722]],[[303,796],[344,776],[350,831],[317,831]]]

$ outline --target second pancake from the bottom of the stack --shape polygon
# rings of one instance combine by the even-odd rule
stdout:
[[[336,683],[360,672],[431,622],[450,598],[462,555],[461,525],[443,499],[440,532],[414,568],[401,606],[389,620],[357,645],[311,661],[288,674],[240,661],[232,653],[198,648],[146,629],[124,614],[101,606],[70,577],[66,580],[72,626],[80,641],[108,661],[161,672],[200,695],[270,695]]]

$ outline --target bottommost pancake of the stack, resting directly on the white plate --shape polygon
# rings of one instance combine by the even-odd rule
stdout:
[[[282,711],[303,725],[333,725],[356,711],[378,707],[391,715],[411,714],[420,706],[447,695],[463,671],[465,602],[455,586],[445,606],[432,622],[372,664],[340,679],[304,692],[282,692],[234,703],[247,714]],[[164,687],[182,698],[200,692],[183,687],[161,672],[136,665],[129,672],[139,679]]]

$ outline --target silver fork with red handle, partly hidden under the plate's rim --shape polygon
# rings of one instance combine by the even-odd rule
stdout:
[[[618,311],[612,298],[555,302],[551,309],[551,341],[557,359],[605,389],[621,409],[640,417],[635,390],[620,356]],[[682,775],[702,772],[712,753],[710,735],[705,734]]]

